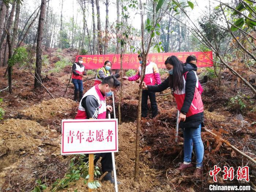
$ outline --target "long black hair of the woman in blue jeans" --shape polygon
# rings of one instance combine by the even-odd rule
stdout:
[[[173,65],[173,74],[169,75],[169,84],[173,90],[182,90],[184,88],[184,81],[183,81],[183,63],[180,61],[176,56],[170,56],[166,59],[165,65],[169,63]]]

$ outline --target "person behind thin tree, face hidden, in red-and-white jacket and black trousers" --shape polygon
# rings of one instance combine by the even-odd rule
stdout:
[[[136,81],[140,78],[141,65],[143,63],[141,54],[138,55],[138,60],[140,63],[140,67],[138,68],[137,73],[132,77],[123,77],[124,80]],[[157,64],[155,64],[149,60],[147,61],[147,65],[146,65],[144,82],[146,83],[146,85],[161,84],[161,78],[160,78]],[[148,91],[148,90],[142,91],[142,105],[141,105],[142,117],[147,117],[147,111],[148,111],[147,99],[148,99],[148,97],[149,97],[150,103],[151,103],[152,117],[154,118],[158,114],[157,100],[155,98],[155,93],[152,91]]]

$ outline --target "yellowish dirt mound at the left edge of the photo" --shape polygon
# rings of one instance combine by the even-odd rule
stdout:
[[[0,172],[15,161],[15,155],[33,154],[42,144],[46,128],[35,121],[10,119],[0,125]],[[9,158],[6,156],[10,156]],[[4,157],[4,158],[3,158]]]

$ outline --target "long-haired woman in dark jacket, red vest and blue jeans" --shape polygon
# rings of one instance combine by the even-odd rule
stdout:
[[[143,89],[161,92],[169,87],[174,91],[177,108],[180,111],[178,123],[184,135],[184,162],[178,170],[192,167],[191,155],[193,145],[196,154],[196,177],[203,174],[204,146],[201,139],[201,123],[203,121],[203,102],[198,91],[197,67],[191,63],[184,65],[176,56],[170,56],[165,61],[169,77],[159,85],[147,86]],[[193,145],[192,145],[193,143]]]

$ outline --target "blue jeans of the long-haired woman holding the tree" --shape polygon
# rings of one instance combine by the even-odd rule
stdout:
[[[201,124],[198,128],[185,128],[184,136],[184,162],[191,162],[193,145],[196,153],[196,167],[203,166],[204,145],[201,139]]]

